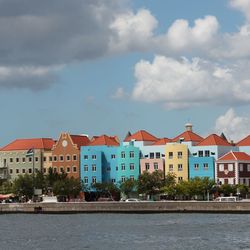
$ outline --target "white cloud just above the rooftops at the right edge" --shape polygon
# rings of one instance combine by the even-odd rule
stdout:
[[[216,119],[214,129],[216,133],[223,132],[229,140],[237,142],[250,134],[249,124],[249,116],[238,116],[234,109],[230,108]]]

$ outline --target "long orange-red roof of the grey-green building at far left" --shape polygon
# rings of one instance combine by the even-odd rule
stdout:
[[[51,149],[54,145],[51,138],[33,138],[33,139],[17,139],[1,148],[1,151],[29,150],[34,149]]]

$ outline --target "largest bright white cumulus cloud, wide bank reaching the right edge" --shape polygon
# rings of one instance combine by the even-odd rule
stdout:
[[[155,56],[152,63],[135,65],[135,100],[159,102],[169,109],[202,103],[232,104],[250,101],[249,62],[225,67],[200,58],[191,61]]]

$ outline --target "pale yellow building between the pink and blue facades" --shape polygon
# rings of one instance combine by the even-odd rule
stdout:
[[[177,181],[188,180],[188,147],[181,143],[168,143],[165,154],[165,175],[174,173]]]

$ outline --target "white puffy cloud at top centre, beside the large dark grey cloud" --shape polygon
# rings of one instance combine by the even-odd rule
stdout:
[[[117,15],[110,28],[114,36],[110,40],[110,51],[143,50],[153,38],[158,21],[149,10],[141,9],[136,14],[129,11]]]

